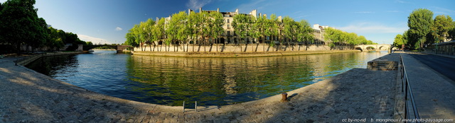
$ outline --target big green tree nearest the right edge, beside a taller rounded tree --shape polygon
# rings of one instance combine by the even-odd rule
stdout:
[[[431,27],[432,43],[444,42],[449,37],[449,30],[453,28],[452,18],[450,16],[438,15],[434,18],[434,24]]]

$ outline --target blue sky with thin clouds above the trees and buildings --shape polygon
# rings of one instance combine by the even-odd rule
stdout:
[[[6,0],[0,0],[4,2]],[[417,8],[427,8],[434,16],[455,17],[452,0],[37,0],[38,16],[53,28],[76,33],[81,40],[122,43],[134,24],[167,17],[188,8],[235,11],[304,19],[349,33],[364,35],[380,44],[392,44],[395,35],[407,30],[407,16]]]

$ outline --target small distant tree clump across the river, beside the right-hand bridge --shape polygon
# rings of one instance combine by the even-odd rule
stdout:
[[[331,40],[328,45],[334,47],[336,45],[375,45],[377,43],[367,40],[363,35],[358,36],[355,33],[347,33],[336,28],[324,29],[325,40]]]

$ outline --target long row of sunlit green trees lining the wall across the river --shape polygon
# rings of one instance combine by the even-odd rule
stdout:
[[[266,16],[255,18],[255,16],[240,13],[233,16],[230,25],[235,31],[228,34],[224,34],[224,24],[223,14],[219,12],[202,11],[195,13],[191,11],[188,14],[186,11],[181,11],[174,13],[171,18],[160,18],[156,21],[149,18],[145,22],[134,25],[125,36],[127,38],[125,44],[141,47],[141,50],[145,50],[144,45],[149,45],[151,50],[152,45],[159,44],[211,45],[226,43],[222,42],[220,37],[223,35],[232,36],[231,34],[235,36],[233,42],[236,44],[259,43],[259,40],[269,42],[270,45],[275,43],[295,45],[296,42],[314,43],[314,30],[310,24],[305,20],[296,22],[289,16],[284,17],[281,21],[274,14],[270,18]],[[326,37],[328,40],[337,42],[337,45],[373,44],[363,36],[357,36],[355,33],[344,33],[341,30],[331,28],[328,29]]]

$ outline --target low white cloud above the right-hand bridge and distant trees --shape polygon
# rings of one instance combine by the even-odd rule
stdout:
[[[378,23],[354,23],[345,27],[335,27],[350,33],[398,33],[401,34],[407,30],[406,25],[387,26]]]

